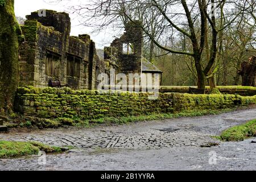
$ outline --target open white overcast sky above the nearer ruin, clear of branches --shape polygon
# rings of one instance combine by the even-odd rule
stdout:
[[[49,0],[15,0],[15,15],[25,18],[32,11],[39,9],[50,9],[56,11],[67,11],[69,6],[77,3],[80,0],[64,1],[62,3],[46,3]],[[86,1],[86,0],[85,0]],[[89,34],[91,39],[96,42],[97,48],[109,46],[113,41],[113,31],[102,31],[100,34],[91,34],[92,28],[79,26],[79,18],[76,15],[69,14],[71,17],[71,35],[78,36],[79,34]]]

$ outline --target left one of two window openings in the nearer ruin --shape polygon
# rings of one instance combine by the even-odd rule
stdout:
[[[46,55],[46,75],[59,77],[60,56],[47,53]]]

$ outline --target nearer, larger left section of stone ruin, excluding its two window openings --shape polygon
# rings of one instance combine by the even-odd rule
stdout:
[[[96,67],[100,69],[100,73],[104,73],[105,61],[98,58],[95,43],[90,40],[89,35],[69,36],[68,14],[55,13],[56,11],[49,11],[48,16],[43,18],[38,17],[37,13],[27,16],[30,20],[22,27],[26,43],[20,47],[20,86],[45,87],[50,79],[57,78],[61,85],[68,84],[73,89],[94,89],[97,85]],[[46,74],[48,53],[59,57],[57,76]],[[81,60],[77,68],[78,77],[67,74],[68,56]]]

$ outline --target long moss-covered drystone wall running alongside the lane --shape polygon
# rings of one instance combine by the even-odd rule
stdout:
[[[147,93],[114,92],[100,94],[96,90],[69,88],[19,88],[15,108],[22,114],[42,118],[129,117],[152,113],[178,113],[186,110],[216,110],[256,103],[256,96],[160,94],[148,100]]]

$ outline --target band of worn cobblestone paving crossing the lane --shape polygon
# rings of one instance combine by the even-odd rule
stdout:
[[[74,146],[82,148],[163,148],[181,146],[216,146],[218,141],[193,131],[191,125],[179,125],[180,129],[150,129],[145,132],[122,135],[94,132],[76,133],[31,133],[0,135],[0,138],[15,141],[38,141],[55,146]]]

